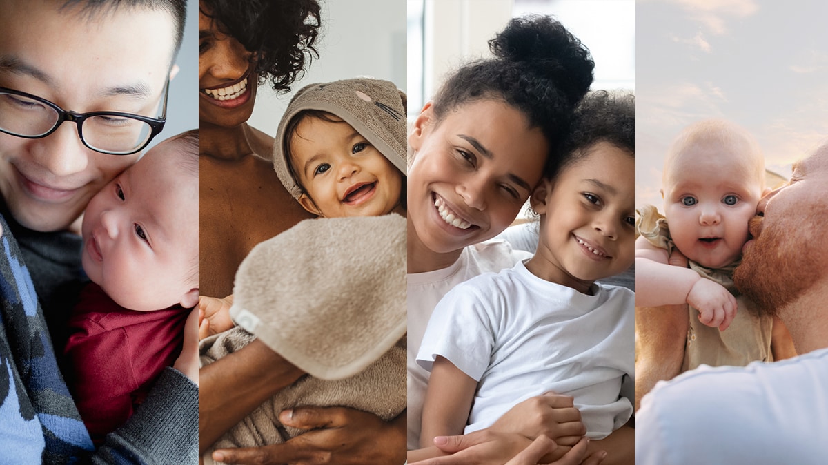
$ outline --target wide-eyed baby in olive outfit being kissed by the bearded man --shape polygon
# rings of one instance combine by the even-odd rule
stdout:
[[[773,320],[745,311],[752,303],[733,285],[764,189],[758,144],[732,122],[696,122],[670,147],[662,183],[665,216],[652,205],[638,211],[637,403],[659,379],[700,364],[772,358]],[[674,251],[689,267],[668,264]],[[679,307],[647,309],[662,305]]]

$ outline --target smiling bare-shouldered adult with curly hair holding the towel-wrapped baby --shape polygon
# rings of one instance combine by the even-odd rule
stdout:
[[[273,170],[273,138],[248,125],[259,84],[286,93],[317,58],[316,0],[199,2],[200,295],[233,290],[238,265],[259,242],[312,215]],[[199,451],[303,373],[253,341],[199,371]],[[347,408],[301,408],[283,424],[312,429],[263,448],[227,449],[223,462],[402,463],[406,415],[385,422]],[[213,458],[217,458],[214,454]]]

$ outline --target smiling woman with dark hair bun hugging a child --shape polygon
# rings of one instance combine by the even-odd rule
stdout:
[[[489,48],[493,58],[450,75],[416,118],[408,139],[413,153],[408,170],[408,458],[505,463],[531,443],[518,434],[528,428],[537,430],[538,438],[557,438],[553,455],[561,463],[580,463],[585,441],[561,458],[580,435],[561,438],[541,426],[561,414],[580,418],[570,397],[533,397],[489,429],[436,438],[440,450],[419,440],[429,373],[417,365],[416,354],[431,312],[460,282],[530,256],[506,242],[481,242],[513,222],[545,170],[556,165],[595,67],[589,50],[551,17],[514,18]],[[590,447],[593,463],[601,458],[596,449]],[[446,453],[455,454],[434,458]]]

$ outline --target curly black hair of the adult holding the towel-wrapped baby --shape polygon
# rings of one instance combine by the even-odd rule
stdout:
[[[203,0],[221,31],[233,36],[256,57],[258,84],[270,81],[286,93],[310,61],[320,32],[317,0]]]

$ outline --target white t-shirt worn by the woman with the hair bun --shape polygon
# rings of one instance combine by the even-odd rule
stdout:
[[[426,273],[408,274],[408,448],[420,448],[420,422],[422,403],[426,398],[428,375],[416,364],[416,352],[428,319],[437,302],[451,290],[469,278],[490,271],[511,268],[517,261],[532,256],[513,251],[506,242],[484,242],[465,247],[460,258],[447,268]]]

